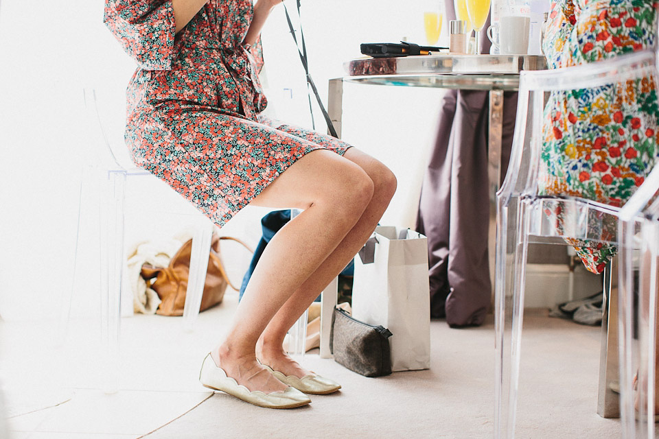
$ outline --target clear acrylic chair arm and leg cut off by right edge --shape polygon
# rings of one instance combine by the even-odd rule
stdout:
[[[621,209],[618,236],[618,340],[623,437],[654,438],[659,165]]]

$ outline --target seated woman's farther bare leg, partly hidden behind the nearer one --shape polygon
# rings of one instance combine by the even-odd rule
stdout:
[[[308,374],[307,370],[301,368],[284,352],[281,345],[286,332],[369,239],[396,190],[395,176],[379,161],[355,148],[347,150],[345,158],[359,165],[373,180],[373,198],[357,224],[343,238],[334,252],[277,311],[259,338],[257,357],[264,364],[283,372],[284,375],[301,378]]]

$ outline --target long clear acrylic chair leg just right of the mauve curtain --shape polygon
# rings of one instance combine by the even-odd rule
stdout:
[[[518,200],[507,205],[497,201],[494,437],[498,439],[515,436],[528,248],[526,209]]]

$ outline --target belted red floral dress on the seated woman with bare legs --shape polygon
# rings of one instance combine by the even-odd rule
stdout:
[[[275,123],[258,78],[261,45],[242,44],[251,0],[209,0],[176,33],[172,0],[106,0],[104,23],[139,68],[128,84],[126,145],[222,226],[313,150],[338,139]]]

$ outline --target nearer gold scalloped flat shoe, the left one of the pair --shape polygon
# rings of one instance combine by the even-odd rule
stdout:
[[[251,392],[244,385],[238,384],[235,379],[227,377],[227,372],[224,372],[224,369],[215,364],[210,353],[206,355],[201,366],[199,381],[204,387],[220,390],[242,399],[242,401],[269,409],[290,409],[311,402],[308,396],[293,387],[289,387],[283,392],[281,390],[271,393],[261,392],[260,390]]]

